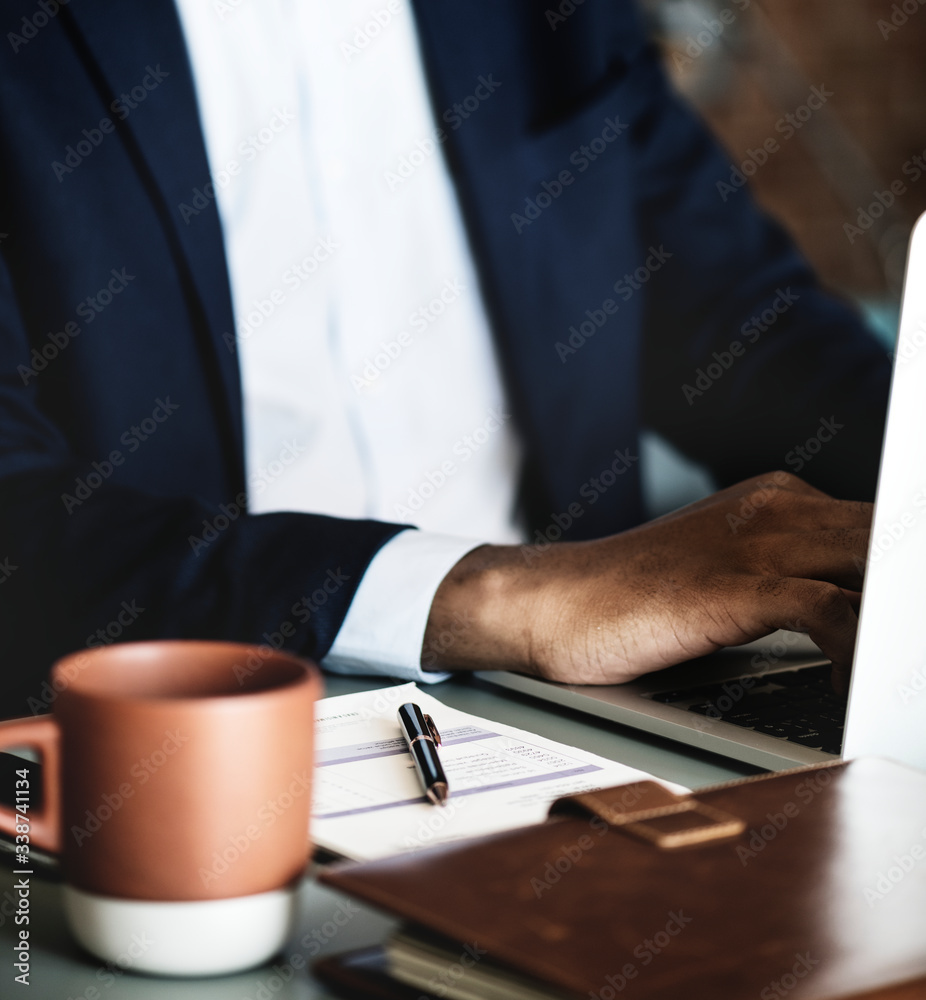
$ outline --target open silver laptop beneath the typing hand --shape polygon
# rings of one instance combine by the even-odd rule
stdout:
[[[926,768],[926,214],[910,238],[848,703],[777,632],[626,684],[483,681],[770,770],[861,755]]]

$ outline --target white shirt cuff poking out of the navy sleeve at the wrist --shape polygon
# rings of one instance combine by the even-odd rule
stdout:
[[[386,674],[432,683],[450,674],[421,667],[421,645],[441,581],[484,544],[428,531],[403,531],[373,557],[328,655],[326,670]]]

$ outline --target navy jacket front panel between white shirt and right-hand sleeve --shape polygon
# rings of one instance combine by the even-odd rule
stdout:
[[[581,500],[574,537],[638,523],[635,467],[617,480],[606,503],[589,500],[587,486],[610,470],[615,456],[637,447],[642,297],[622,303],[595,346],[568,364],[554,347],[612,294],[615,277],[639,263],[627,147],[615,148],[602,169],[583,173],[563,197],[546,196],[548,208],[525,229],[516,230],[512,214],[545,190],[542,183],[555,183],[564,168],[575,170],[573,151],[601,129],[604,115],[621,110],[620,103],[601,103],[620,69],[602,38],[630,14],[602,0],[583,7],[588,17],[577,14],[569,31],[551,31],[545,0],[413,3],[432,106],[439,123],[450,122],[444,150],[509,399],[550,505],[541,516]],[[484,77],[497,83],[497,94],[462,122],[445,117]]]

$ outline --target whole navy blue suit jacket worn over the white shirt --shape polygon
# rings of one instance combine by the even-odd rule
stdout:
[[[727,483],[834,418],[803,474],[870,496],[883,351],[747,191],[721,196],[729,163],[635,8],[586,0],[554,30],[547,6],[415,3],[532,527],[570,505],[567,537],[638,523],[638,463],[599,477],[641,424]],[[0,9],[4,708],[49,705],[49,663],[88,643],[289,623],[286,645],[321,657],[401,529],[245,514],[228,274],[173,5]],[[480,77],[494,93],[464,118]]]

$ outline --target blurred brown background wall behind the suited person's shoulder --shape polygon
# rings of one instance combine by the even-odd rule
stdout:
[[[676,87],[759,202],[891,345],[907,240],[926,211],[926,0],[643,6]],[[814,88],[822,106],[801,121]],[[659,441],[644,463],[653,513],[710,488]]]

